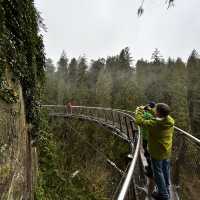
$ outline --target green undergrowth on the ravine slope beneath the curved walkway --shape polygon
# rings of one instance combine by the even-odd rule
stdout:
[[[113,176],[112,170],[105,163],[105,158],[85,143],[90,138],[93,145],[98,145],[99,149],[111,153],[110,147],[107,146],[110,144],[109,138],[99,137],[99,129],[94,126],[84,126],[78,122],[70,124],[74,124],[74,127],[88,135],[80,138],[66,126],[65,120],[54,119],[48,122],[43,112],[38,142],[39,181],[35,198],[38,200],[109,199],[106,196],[111,190],[108,179]],[[89,137],[91,133],[93,139]],[[115,157],[111,155],[115,159],[120,159],[119,156],[121,155]],[[73,175],[76,171],[77,175]],[[108,192],[106,188],[110,188]]]

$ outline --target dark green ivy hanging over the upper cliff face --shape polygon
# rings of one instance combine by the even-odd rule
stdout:
[[[22,85],[26,117],[34,128],[38,123],[37,97],[44,81],[44,46],[39,32],[39,14],[33,1],[0,1],[0,97],[15,103],[18,94],[6,82],[6,70],[13,82]],[[35,131],[33,129],[33,131]]]

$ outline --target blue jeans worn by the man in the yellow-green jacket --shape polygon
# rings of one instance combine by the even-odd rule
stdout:
[[[168,200],[170,198],[170,161],[152,158],[152,167],[158,193],[163,199]]]

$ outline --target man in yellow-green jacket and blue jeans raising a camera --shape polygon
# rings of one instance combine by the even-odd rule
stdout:
[[[136,109],[136,123],[148,128],[148,147],[152,160],[154,179],[157,192],[152,196],[156,200],[170,199],[170,156],[172,150],[172,136],[174,120],[169,116],[170,108],[165,103],[156,104],[155,116],[144,119],[144,107]]]

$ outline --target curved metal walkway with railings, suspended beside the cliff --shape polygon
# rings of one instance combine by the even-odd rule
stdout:
[[[135,126],[133,112],[86,106],[73,106],[70,110],[63,105],[42,105],[42,107],[48,111],[49,116],[95,122],[125,140],[130,147],[132,161],[116,188],[113,199],[151,199],[149,180],[144,175],[145,159],[140,148],[140,129]],[[171,200],[198,200],[200,140],[178,127],[175,127],[171,165]]]

